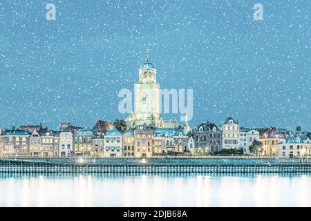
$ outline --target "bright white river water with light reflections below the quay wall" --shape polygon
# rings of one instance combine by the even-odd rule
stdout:
[[[0,206],[311,206],[311,174],[0,173]]]

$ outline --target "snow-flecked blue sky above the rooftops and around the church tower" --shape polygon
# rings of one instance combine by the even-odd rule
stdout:
[[[232,116],[310,131],[310,11],[308,0],[1,1],[0,128],[126,117],[117,93],[149,48],[161,88],[194,89],[191,126]]]

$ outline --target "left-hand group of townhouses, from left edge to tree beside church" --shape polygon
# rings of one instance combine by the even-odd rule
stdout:
[[[112,128],[111,122],[99,121],[91,128],[62,123],[57,131],[36,126],[20,126],[2,131],[0,155],[29,155],[66,157],[82,153],[95,155],[104,151],[104,132]]]

